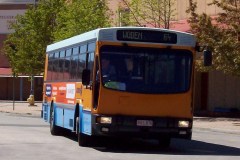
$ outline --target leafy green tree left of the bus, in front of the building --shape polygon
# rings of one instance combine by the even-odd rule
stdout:
[[[43,73],[46,46],[54,41],[56,15],[64,3],[62,0],[39,1],[37,8],[29,6],[24,15],[17,16],[16,23],[11,25],[15,32],[4,43],[14,73]]]

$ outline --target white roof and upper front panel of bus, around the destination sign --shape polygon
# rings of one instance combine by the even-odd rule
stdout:
[[[110,28],[99,28],[95,29],[59,42],[47,46],[47,53],[59,50],[61,48],[67,48],[74,45],[77,45],[82,42],[97,40],[97,41],[111,41],[111,42],[122,42],[122,43],[154,43],[154,42],[144,42],[144,41],[129,41],[129,40],[118,40],[117,31],[126,30],[126,31],[153,31],[153,32],[162,32],[162,33],[173,33],[176,36],[176,43],[161,43],[158,42],[156,44],[164,44],[164,45],[178,45],[178,46],[190,46],[195,47],[196,39],[193,34],[180,32],[175,30],[161,29],[161,28],[148,28],[148,27],[110,27]]]

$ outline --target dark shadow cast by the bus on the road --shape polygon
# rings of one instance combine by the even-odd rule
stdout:
[[[77,143],[77,136],[74,133],[65,132],[64,136]],[[160,148],[154,140],[109,138],[93,139],[89,147],[112,153],[240,156],[240,148],[181,139],[172,139],[170,147],[165,149]]]

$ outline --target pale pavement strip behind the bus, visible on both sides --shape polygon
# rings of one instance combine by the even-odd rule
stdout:
[[[0,101],[0,112],[41,117],[42,103],[29,106],[27,102]],[[240,134],[240,118],[194,117],[193,129]]]

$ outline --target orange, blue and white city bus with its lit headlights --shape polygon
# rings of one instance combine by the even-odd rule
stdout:
[[[164,147],[191,139],[198,50],[192,34],[147,27],[100,28],[48,45],[43,119],[52,135],[76,132],[80,146],[93,137]]]

